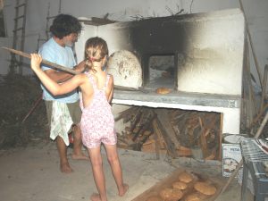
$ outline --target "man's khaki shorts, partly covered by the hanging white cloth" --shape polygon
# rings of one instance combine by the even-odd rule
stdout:
[[[48,125],[50,127],[53,101],[46,101],[45,100],[45,104],[46,104],[47,121],[48,121]],[[80,109],[80,101],[77,101],[77,102],[71,103],[71,104],[66,104],[66,105],[67,105],[69,113],[71,115],[71,120],[72,120],[73,124],[76,124],[76,125],[79,124],[81,121],[81,116],[82,116],[82,111]]]

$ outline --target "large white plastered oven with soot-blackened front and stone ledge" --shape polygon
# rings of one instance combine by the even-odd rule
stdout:
[[[222,133],[239,134],[245,44],[239,9],[105,25],[82,22],[76,44],[79,61],[85,41],[94,36],[107,41],[110,54],[125,50],[137,58],[141,73],[134,74],[139,78],[125,65],[129,70],[115,84],[131,90],[116,89],[113,104],[221,113]],[[163,73],[171,76],[160,77]],[[129,86],[133,79],[140,81]],[[159,87],[172,92],[158,95]]]

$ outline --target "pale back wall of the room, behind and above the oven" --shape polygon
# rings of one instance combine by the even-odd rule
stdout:
[[[268,63],[268,1],[242,0],[248,21],[249,30],[255,47],[257,61],[264,73],[264,65]],[[8,37],[13,35],[15,0],[4,1],[4,20]],[[203,13],[228,8],[239,8],[239,0],[28,0],[25,52],[34,52],[38,47],[38,35],[46,37],[46,16],[50,4],[50,16],[61,10],[76,17],[104,17],[108,13],[110,20],[130,21],[137,16],[168,16],[184,9],[184,13]],[[222,30],[224,31],[224,30]],[[0,46],[4,44],[0,41]],[[3,50],[0,50],[3,54]],[[251,56],[251,71],[258,80],[255,63]],[[5,64],[0,60],[2,68]],[[8,68],[7,66],[5,68]],[[25,70],[27,73],[28,70]],[[2,73],[2,71],[1,71]]]

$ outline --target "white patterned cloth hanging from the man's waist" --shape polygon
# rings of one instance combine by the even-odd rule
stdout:
[[[50,138],[54,140],[57,136],[60,136],[63,138],[65,145],[69,146],[68,131],[71,128],[71,124],[71,115],[67,105],[54,101],[52,105]]]

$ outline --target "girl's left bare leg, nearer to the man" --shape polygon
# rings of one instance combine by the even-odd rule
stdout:
[[[100,152],[100,146],[96,148],[88,148],[88,155],[92,165],[92,171],[96,188],[99,195],[93,194],[91,200],[93,201],[106,201],[106,189],[105,189],[105,173],[103,169],[103,160]]]

